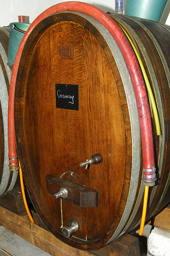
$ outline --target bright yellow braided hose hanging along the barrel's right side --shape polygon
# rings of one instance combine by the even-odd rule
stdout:
[[[159,118],[158,118],[158,113],[157,113],[157,109],[156,109],[156,104],[155,104],[155,100],[154,100],[154,97],[153,97],[153,93],[152,93],[152,89],[151,89],[151,86],[150,86],[150,83],[149,83],[149,80],[148,80],[148,76],[146,74],[146,71],[145,71],[145,68],[143,66],[143,63],[142,63],[142,60],[138,54],[138,51],[137,49],[135,48],[132,40],[130,39],[129,35],[126,33],[126,31],[124,30],[124,28],[122,28],[122,26],[120,24],[118,24],[119,27],[122,29],[123,33],[126,35],[126,37],[128,38],[134,52],[135,52],[135,55],[138,59],[138,62],[139,62],[139,66],[141,68],[141,71],[142,71],[142,74],[143,74],[143,78],[144,78],[144,81],[145,81],[145,84],[146,84],[146,88],[148,90],[148,95],[149,95],[149,98],[150,98],[150,101],[151,101],[151,105],[152,105],[152,110],[153,110],[153,115],[154,115],[154,119],[155,119],[155,126],[156,126],[156,134],[157,135],[161,135],[161,129],[160,129],[160,124],[159,124]]]

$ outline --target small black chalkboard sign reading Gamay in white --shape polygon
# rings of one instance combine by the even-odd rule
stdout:
[[[56,108],[78,110],[78,85],[55,84]]]

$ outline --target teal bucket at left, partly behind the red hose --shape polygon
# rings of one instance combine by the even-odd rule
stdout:
[[[14,29],[14,26],[24,32]],[[13,22],[9,24],[10,33],[9,33],[9,45],[8,45],[8,65],[14,64],[18,47],[20,45],[22,37],[24,36],[29,26],[30,24],[21,23],[21,22]]]

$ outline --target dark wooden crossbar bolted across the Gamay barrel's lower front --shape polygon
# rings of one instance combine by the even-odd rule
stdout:
[[[65,188],[68,196],[60,199],[80,207],[97,207],[99,204],[99,191],[69,180],[57,178],[54,175],[46,175],[46,187],[51,196],[58,193],[61,188]]]

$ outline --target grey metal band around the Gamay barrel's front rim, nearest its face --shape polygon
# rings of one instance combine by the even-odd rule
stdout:
[[[73,12],[74,13],[74,12]],[[77,14],[77,12],[75,12]],[[97,20],[94,18],[79,13],[79,16],[85,17],[90,23],[93,24],[94,27],[98,29],[100,34],[104,37],[105,41],[107,42],[112,55],[115,58],[115,62],[117,64],[121,80],[123,82],[124,92],[126,94],[126,100],[128,105],[129,117],[130,117],[130,124],[131,124],[131,137],[132,137],[132,171],[131,171],[131,180],[130,180],[130,188],[128,193],[128,199],[126,202],[126,206],[124,208],[124,212],[122,218],[119,222],[119,226],[117,227],[115,233],[107,242],[113,241],[115,238],[118,237],[121,230],[123,229],[126,221],[129,218],[131,209],[133,207],[136,191],[138,188],[138,181],[139,181],[139,172],[140,172],[140,150],[141,150],[141,140],[140,140],[140,125],[139,125],[139,115],[138,115],[138,108],[135,100],[134,89],[132,86],[131,78],[124,61],[124,58],[121,54],[120,49],[118,48],[115,40],[107,31],[107,29],[101,25]],[[135,125],[134,125],[135,123]]]

